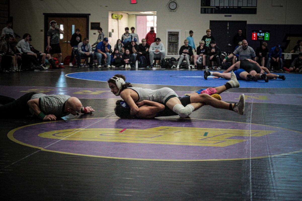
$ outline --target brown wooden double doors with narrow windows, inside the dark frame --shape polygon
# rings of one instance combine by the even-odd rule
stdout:
[[[55,20],[57,26],[64,31],[64,34],[60,34],[59,40],[63,63],[65,57],[71,53],[70,39],[76,29],[80,29],[82,40],[86,37],[86,17],[50,17],[48,18],[48,24],[52,20]]]

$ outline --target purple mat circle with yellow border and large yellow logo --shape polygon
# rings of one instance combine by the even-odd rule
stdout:
[[[44,151],[138,160],[249,159],[302,149],[302,135],[293,130],[199,119],[55,121],[16,128],[8,137]]]

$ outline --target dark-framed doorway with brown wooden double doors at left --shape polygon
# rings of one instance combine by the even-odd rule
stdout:
[[[61,16],[60,16],[61,15]],[[80,29],[82,40],[89,36],[89,15],[90,14],[44,14],[44,49],[47,46],[47,31],[50,29],[50,21],[55,20],[57,26],[64,31],[60,34],[60,48],[62,51],[62,62],[71,53],[70,39],[76,29]]]

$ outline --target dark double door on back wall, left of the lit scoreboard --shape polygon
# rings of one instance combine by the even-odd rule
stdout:
[[[221,52],[233,52],[235,45],[233,37],[242,30],[246,36],[246,21],[214,21],[210,20],[211,35],[214,36],[217,46]]]

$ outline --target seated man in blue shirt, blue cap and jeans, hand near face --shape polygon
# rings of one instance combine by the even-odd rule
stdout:
[[[110,68],[110,49],[111,46],[108,43],[108,38],[104,38],[103,41],[96,45],[94,57],[98,60],[98,68],[101,68],[102,57],[106,62],[107,68]]]

